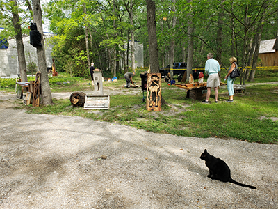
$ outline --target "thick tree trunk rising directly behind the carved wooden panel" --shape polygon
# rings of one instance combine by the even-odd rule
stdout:
[[[146,0],[147,26],[149,36],[149,65],[151,73],[159,72],[158,45],[156,38],[156,5],[154,0]]]

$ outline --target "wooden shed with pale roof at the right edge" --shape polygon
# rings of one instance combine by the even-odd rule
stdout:
[[[276,39],[261,41],[259,59],[261,66],[278,66],[278,36]]]

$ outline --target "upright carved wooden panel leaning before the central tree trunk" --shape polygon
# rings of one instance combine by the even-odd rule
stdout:
[[[161,73],[147,75],[147,110],[161,111]]]

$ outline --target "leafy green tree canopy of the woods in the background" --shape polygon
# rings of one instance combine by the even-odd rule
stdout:
[[[188,60],[204,67],[212,52],[222,67],[236,56],[243,68],[251,65],[254,48],[278,32],[277,0],[163,0],[156,3],[156,34],[159,65]],[[3,9],[2,9],[3,10]],[[97,68],[124,72],[131,60],[131,38],[144,45],[144,65],[149,66],[147,5],[143,0],[51,0],[44,4],[53,38],[53,56],[60,72],[89,75],[88,61]],[[131,19],[132,12],[132,19]],[[3,18],[3,16],[2,16]],[[189,30],[188,30],[189,27]],[[190,40],[190,42],[188,42]],[[190,56],[192,56],[190,54]],[[115,71],[114,71],[115,70]]]

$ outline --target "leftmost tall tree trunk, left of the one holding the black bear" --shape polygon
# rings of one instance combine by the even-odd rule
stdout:
[[[19,63],[20,77],[22,79],[22,82],[28,82],[24,45],[22,40],[22,27],[20,26],[20,20],[17,10],[17,0],[11,1],[13,1],[13,28],[15,29],[15,40],[17,42],[17,58]]]

